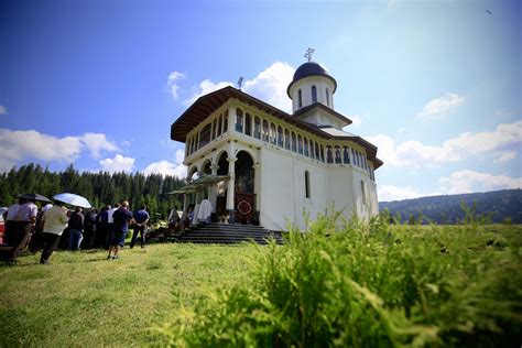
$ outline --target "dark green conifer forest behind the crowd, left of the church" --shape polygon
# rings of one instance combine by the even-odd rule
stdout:
[[[151,217],[164,218],[177,204],[176,195],[168,195],[185,183],[176,176],[142,173],[79,173],[73,164],[64,172],[51,172],[40,164],[26,164],[0,174],[0,206],[9,207],[22,193],[36,193],[47,197],[68,192],[86,197],[94,207],[100,208],[121,199],[130,203],[132,210],[145,204]]]

